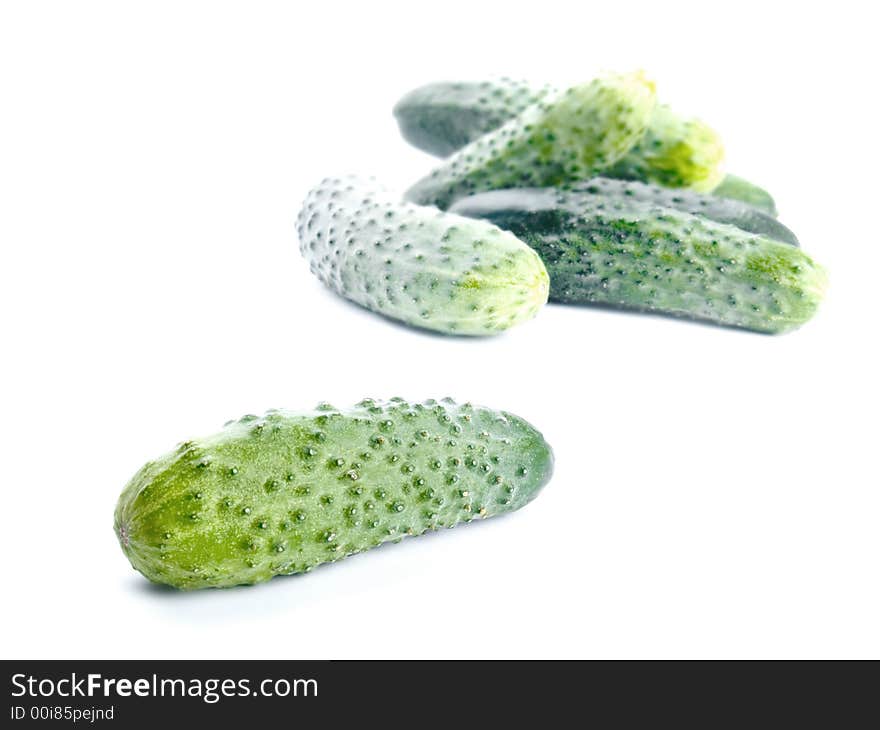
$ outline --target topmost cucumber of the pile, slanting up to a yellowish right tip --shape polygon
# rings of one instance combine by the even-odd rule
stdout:
[[[589,179],[641,139],[654,105],[654,85],[641,73],[572,87],[462,147],[406,197],[448,208],[483,190]]]

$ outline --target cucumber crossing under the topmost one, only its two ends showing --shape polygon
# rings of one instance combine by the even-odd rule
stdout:
[[[394,116],[408,142],[445,157],[556,93],[511,79],[427,84],[406,94]],[[657,105],[642,139],[602,174],[709,191],[723,178],[723,157],[711,127]]]

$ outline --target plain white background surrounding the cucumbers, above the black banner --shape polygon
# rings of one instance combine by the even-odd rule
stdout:
[[[862,5],[3,3],[3,656],[880,656]],[[311,185],[430,169],[391,117],[409,88],[638,67],[830,270],[800,331],[548,306],[450,339],[309,274]],[[130,568],[112,513],[147,459],[242,413],[392,395],[526,417],[555,478],[509,517],[259,587]]]

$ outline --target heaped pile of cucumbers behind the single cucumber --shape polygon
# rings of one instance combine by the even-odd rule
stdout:
[[[375,312],[485,335],[549,299],[780,333],[823,296],[769,193],[726,175],[715,131],[658,104],[641,72],[429,84],[394,115],[445,159],[403,199],[326,179],[298,218],[312,271]]]

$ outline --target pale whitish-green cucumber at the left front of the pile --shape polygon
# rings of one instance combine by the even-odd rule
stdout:
[[[496,334],[547,301],[544,265],[512,234],[400,202],[374,181],[324,180],[306,197],[297,227],[300,250],[321,281],[416,327]]]

